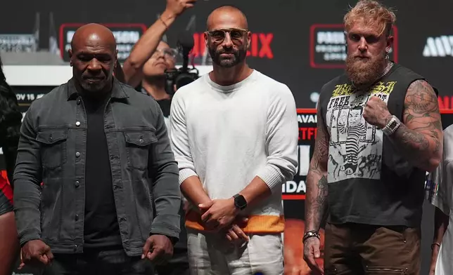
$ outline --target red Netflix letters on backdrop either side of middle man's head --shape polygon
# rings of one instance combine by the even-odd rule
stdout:
[[[250,37],[250,47],[247,51],[247,56],[252,58],[273,59],[273,39],[274,34],[272,33],[253,33]],[[193,50],[191,53],[194,62],[199,65],[212,65],[212,59],[206,48],[204,33],[194,33],[193,41]]]

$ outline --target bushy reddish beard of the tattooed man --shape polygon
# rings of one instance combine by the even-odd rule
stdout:
[[[361,59],[347,55],[345,69],[347,77],[356,87],[371,86],[383,74],[387,65],[385,56],[386,54],[371,59]]]

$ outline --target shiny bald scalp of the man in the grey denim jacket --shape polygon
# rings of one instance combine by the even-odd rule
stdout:
[[[72,51],[77,51],[78,48],[91,44],[102,44],[110,48],[111,51],[116,50],[115,36],[113,36],[112,31],[95,23],[83,25],[75,31],[74,36],[72,36],[71,48]]]

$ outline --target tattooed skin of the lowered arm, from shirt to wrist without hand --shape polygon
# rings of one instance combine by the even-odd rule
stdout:
[[[305,196],[305,228],[317,230],[327,209],[327,160],[328,133],[321,114],[318,114],[317,138],[314,154],[310,161],[307,175],[307,192]]]

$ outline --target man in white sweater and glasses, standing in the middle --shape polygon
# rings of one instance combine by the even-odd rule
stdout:
[[[283,274],[281,185],[298,165],[298,121],[288,86],[245,62],[250,35],[238,8],[213,11],[213,70],[172,102],[192,274]]]

